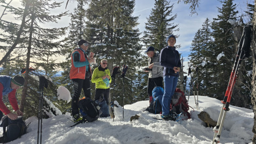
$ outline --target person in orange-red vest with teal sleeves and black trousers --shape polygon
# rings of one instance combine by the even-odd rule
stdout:
[[[72,115],[74,121],[77,121],[79,116],[78,101],[82,89],[84,90],[84,96],[91,98],[91,66],[94,53],[91,52],[89,58],[87,58],[87,49],[89,43],[84,39],[81,39],[78,43],[78,48],[71,54],[71,69],[69,77],[74,83],[74,95],[71,101]]]

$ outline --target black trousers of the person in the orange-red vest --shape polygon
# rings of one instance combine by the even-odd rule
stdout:
[[[72,79],[72,81],[74,83],[74,87],[73,87],[74,95],[72,97],[71,107],[72,107],[72,115],[74,116],[76,114],[79,114],[78,101],[79,101],[79,97],[82,89],[84,90],[84,97],[91,99],[91,81],[89,78],[85,78],[85,79],[74,78]]]

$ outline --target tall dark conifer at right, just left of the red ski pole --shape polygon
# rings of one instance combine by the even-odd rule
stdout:
[[[238,11],[235,11],[236,4],[233,4],[233,0],[225,0],[221,3],[222,7],[218,7],[220,14],[212,22],[214,47],[211,47],[212,55],[215,56],[215,59],[211,59],[211,63],[215,64],[215,74],[213,76],[215,77],[214,82],[217,84],[215,94],[218,99],[222,99],[225,95],[235,56],[233,27],[227,21],[229,19],[236,20],[236,14],[238,13]],[[225,56],[217,60],[219,54]]]

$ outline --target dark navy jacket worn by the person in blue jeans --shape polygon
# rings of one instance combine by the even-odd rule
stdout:
[[[175,47],[166,46],[160,53],[160,65],[164,67],[164,76],[179,76],[178,73],[174,73],[173,67],[181,67],[180,55]]]

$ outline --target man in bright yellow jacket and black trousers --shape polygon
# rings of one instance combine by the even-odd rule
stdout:
[[[107,68],[108,61],[101,60],[100,66],[95,68],[92,74],[92,83],[95,83],[95,98],[94,101],[99,104],[102,114],[100,117],[108,117],[109,114],[109,91],[112,81],[110,70]]]

